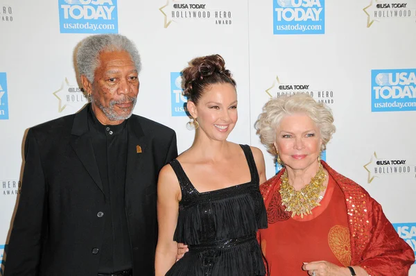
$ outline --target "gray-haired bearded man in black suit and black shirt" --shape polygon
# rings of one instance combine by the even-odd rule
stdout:
[[[132,115],[141,62],[126,37],[87,37],[77,66],[91,103],[28,131],[5,276],[154,275],[157,175],[175,132]]]

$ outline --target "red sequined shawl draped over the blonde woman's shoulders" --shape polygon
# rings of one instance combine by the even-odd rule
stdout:
[[[410,266],[415,262],[415,254],[385,217],[381,205],[371,198],[363,187],[340,175],[327,163],[321,162],[345,196],[352,266],[361,266],[372,276],[408,275]],[[260,185],[268,223],[285,221],[291,217],[291,212],[286,212],[281,206],[279,189],[283,171],[284,169]],[[261,244],[261,241],[259,242]]]

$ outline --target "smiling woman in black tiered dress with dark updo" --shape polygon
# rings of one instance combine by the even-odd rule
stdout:
[[[156,275],[265,275],[256,239],[267,227],[263,154],[227,141],[238,117],[236,83],[220,55],[192,60],[182,78],[196,137],[159,173]],[[189,252],[175,263],[177,243]]]

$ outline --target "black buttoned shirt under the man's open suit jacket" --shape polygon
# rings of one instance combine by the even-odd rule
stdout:
[[[98,273],[111,274],[132,268],[131,243],[124,207],[125,168],[127,164],[127,120],[116,126],[104,126],[89,106],[89,130],[94,155],[105,195],[104,239]]]

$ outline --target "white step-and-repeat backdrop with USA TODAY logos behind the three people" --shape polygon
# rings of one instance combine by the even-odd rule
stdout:
[[[173,128],[180,152],[194,133],[179,72],[196,56],[225,58],[239,97],[229,140],[261,148],[268,178],[279,168],[254,130],[263,104],[297,92],[327,103],[337,131],[324,159],[365,187],[415,250],[416,0],[0,0],[0,259],[25,131],[85,105],[73,49],[95,33],[137,44],[135,113]]]

